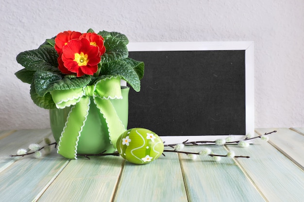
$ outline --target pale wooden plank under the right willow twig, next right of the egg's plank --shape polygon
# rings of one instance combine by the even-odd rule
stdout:
[[[185,150],[199,152],[203,147],[186,146]],[[222,146],[208,147],[215,154],[227,154]],[[198,156],[193,161],[183,154],[181,159],[189,202],[265,201],[233,159],[222,157],[216,162],[210,156]]]

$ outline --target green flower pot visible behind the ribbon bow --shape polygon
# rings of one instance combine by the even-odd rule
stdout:
[[[123,99],[110,100],[113,104],[119,119],[127,129],[128,125],[128,95],[129,87],[122,86],[121,93]],[[50,109],[50,124],[53,136],[58,143],[61,133],[66,124],[70,107],[65,109]],[[115,114],[114,114],[115,115]],[[116,142],[113,142],[116,145]],[[106,150],[107,153],[112,153],[116,149],[111,144],[109,139],[108,128],[100,110],[96,107],[91,98],[90,109],[87,119],[84,123],[81,136],[77,145],[78,154],[98,154]]]

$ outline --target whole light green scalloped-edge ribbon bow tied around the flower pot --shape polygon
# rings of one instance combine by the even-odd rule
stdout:
[[[77,158],[77,145],[84,127],[90,106],[90,96],[100,110],[107,123],[109,137],[116,148],[116,141],[125,131],[110,99],[122,99],[120,78],[104,78],[91,86],[78,89],[55,90],[51,92],[58,109],[73,105],[69,111],[67,122],[58,142],[57,153],[66,158]]]

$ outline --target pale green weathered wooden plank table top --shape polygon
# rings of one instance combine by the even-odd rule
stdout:
[[[304,128],[257,128],[255,135],[273,130],[268,142],[247,148],[184,148],[250,158],[166,153],[145,165],[119,156],[68,160],[54,149],[39,159],[9,157],[31,143],[42,146],[51,130],[0,131],[0,202],[304,202]]]

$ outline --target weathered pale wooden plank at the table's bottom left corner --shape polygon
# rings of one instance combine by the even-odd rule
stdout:
[[[1,172],[1,202],[31,202],[53,180],[65,165],[64,159],[52,152],[42,159],[25,156]]]

